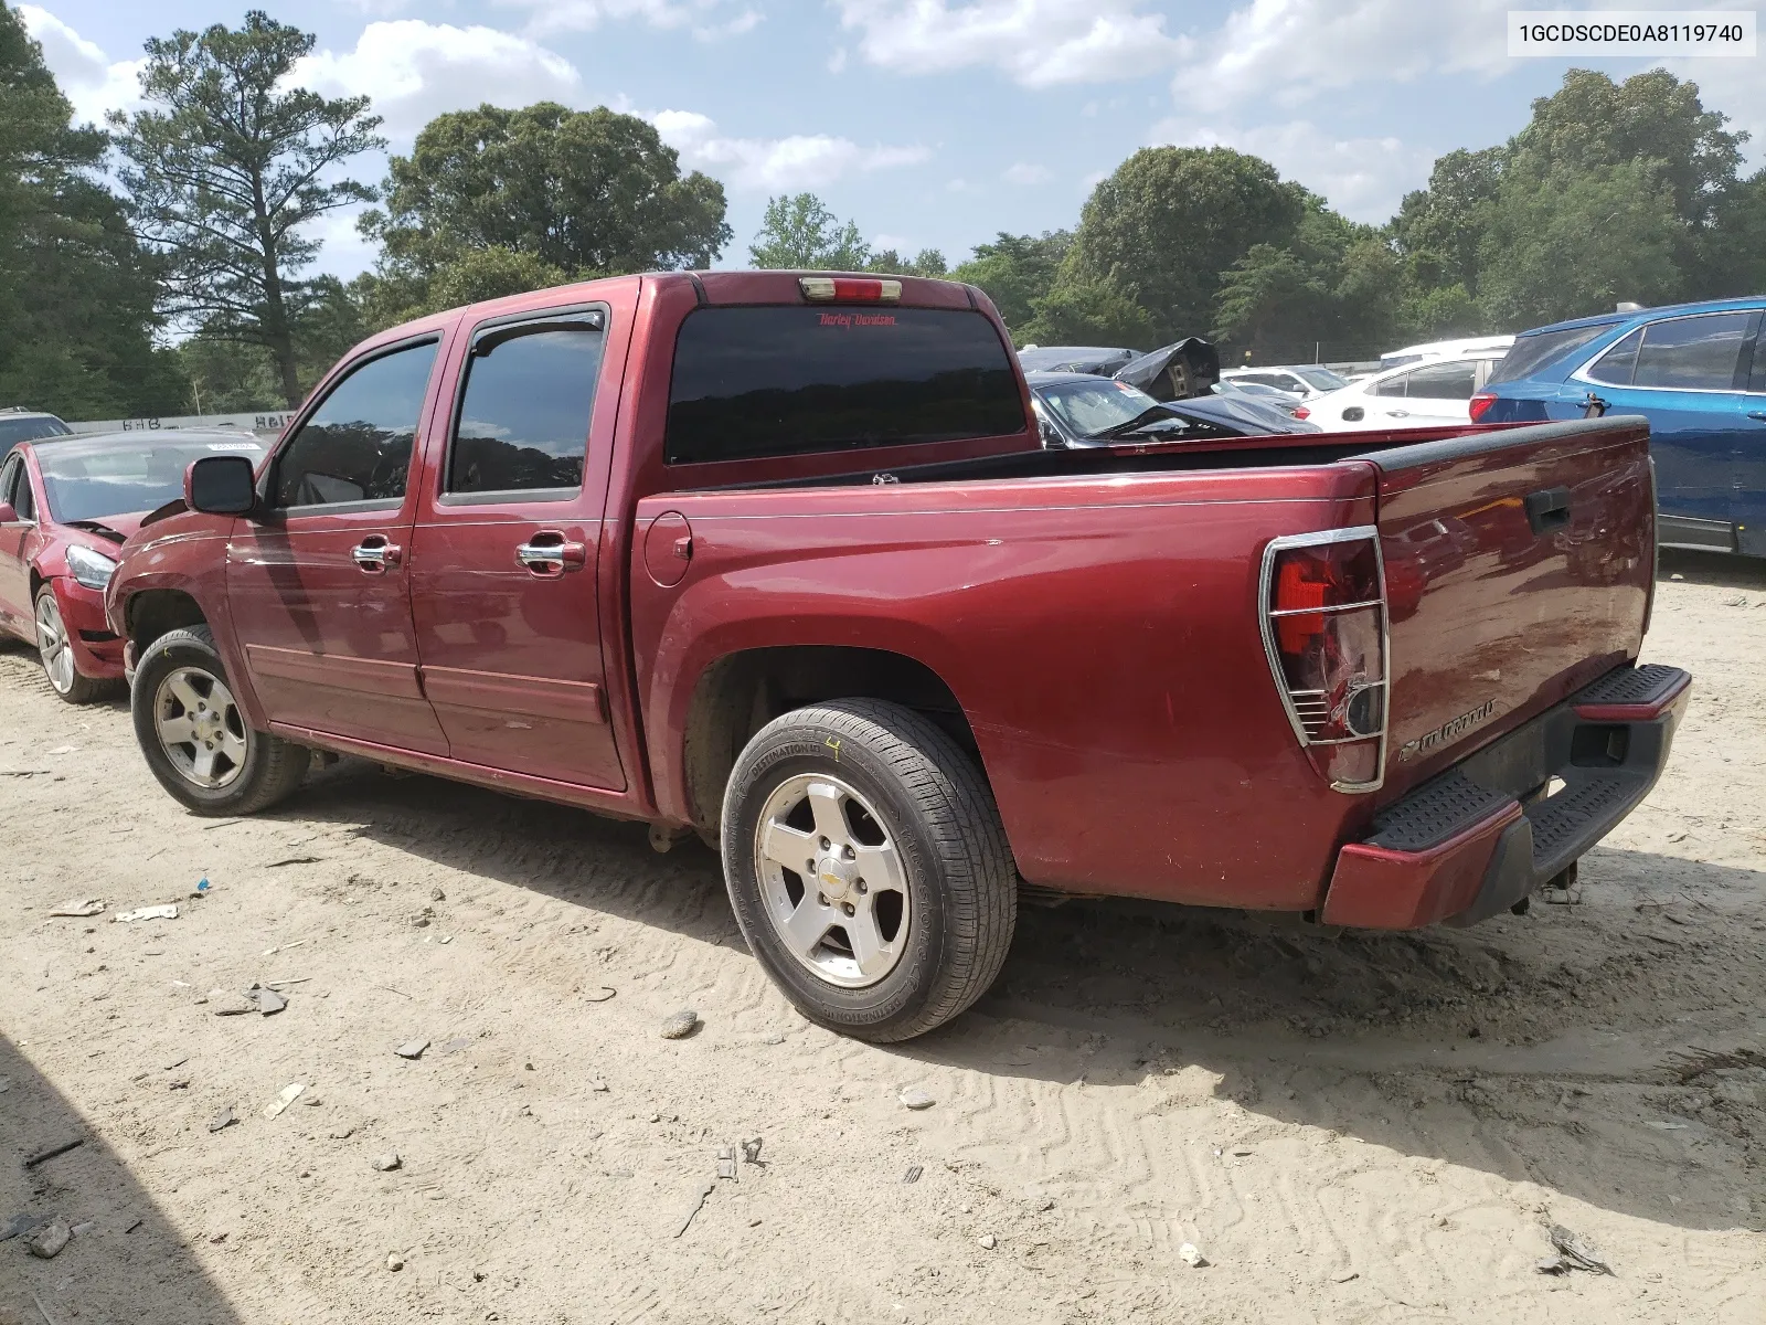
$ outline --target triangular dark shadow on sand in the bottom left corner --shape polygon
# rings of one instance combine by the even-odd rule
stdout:
[[[34,1230],[0,1242],[0,1320],[238,1325],[226,1295],[122,1157],[4,1035],[0,1081],[9,1083],[0,1092],[0,1235],[18,1217],[81,1228],[53,1260],[26,1251]],[[72,1138],[85,1141],[25,1168],[26,1157]]]

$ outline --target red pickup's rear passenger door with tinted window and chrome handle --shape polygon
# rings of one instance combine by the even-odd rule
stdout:
[[[419,505],[411,597],[424,693],[456,760],[618,791],[595,576],[618,401],[609,313],[473,329]]]

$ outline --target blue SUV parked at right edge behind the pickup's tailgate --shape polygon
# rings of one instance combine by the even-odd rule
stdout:
[[[1766,556],[1766,295],[1559,322],[1471,398],[1485,424],[1641,413],[1669,548]]]

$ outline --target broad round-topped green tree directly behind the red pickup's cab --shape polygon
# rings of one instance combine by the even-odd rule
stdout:
[[[438,115],[392,157],[385,212],[362,217],[380,276],[413,307],[623,272],[710,267],[729,242],[724,186],[682,175],[652,124],[542,101]]]

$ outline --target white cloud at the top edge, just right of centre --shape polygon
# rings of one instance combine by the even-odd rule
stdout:
[[[865,60],[899,74],[977,65],[1024,87],[1141,78],[1178,62],[1187,37],[1141,0],[837,0]]]

